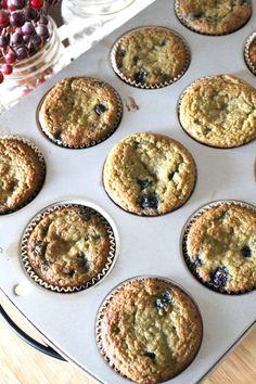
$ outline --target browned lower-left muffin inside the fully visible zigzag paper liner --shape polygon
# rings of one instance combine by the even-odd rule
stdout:
[[[29,274],[31,270],[53,289],[80,289],[103,272],[111,239],[107,223],[95,210],[59,207],[47,210],[33,227],[26,240]]]

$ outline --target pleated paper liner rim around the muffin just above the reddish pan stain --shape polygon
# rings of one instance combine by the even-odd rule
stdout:
[[[187,60],[183,66],[183,69],[180,72],[180,74],[176,77],[174,77],[171,80],[169,81],[164,81],[164,82],[156,82],[156,84],[145,84],[145,82],[137,82],[136,80],[132,80],[128,77],[126,77],[118,68],[117,66],[117,62],[116,62],[116,53],[117,53],[117,49],[119,47],[119,44],[121,43],[121,41],[129,35],[132,35],[135,31],[137,30],[144,30],[144,29],[161,29],[161,30],[166,30],[169,33],[172,33],[174,35],[176,35],[177,37],[179,37],[181,39],[181,41],[183,42],[184,49],[185,49],[185,55],[187,55]],[[111,66],[114,69],[115,74],[125,82],[127,82],[128,85],[136,87],[136,88],[141,88],[141,89],[161,89],[167,86],[170,86],[171,84],[176,82],[177,80],[179,80],[188,71],[190,62],[191,62],[191,51],[189,48],[188,42],[184,40],[184,38],[179,35],[177,31],[170,29],[170,28],[166,28],[166,27],[162,27],[162,26],[156,26],[156,25],[148,25],[148,26],[142,26],[142,27],[138,27],[138,28],[133,28],[130,29],[129,31],[125,33],[123,36],[120,36],[115,43],[113,44],[112,49],[111,49],[111,53],[110,53],[110,62],[111,62]]]

